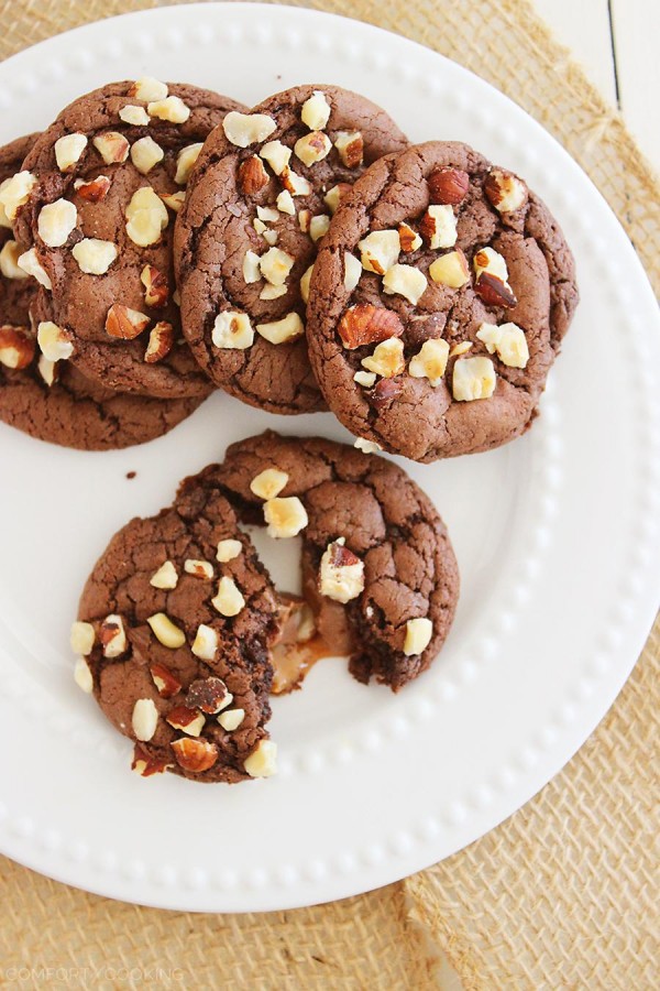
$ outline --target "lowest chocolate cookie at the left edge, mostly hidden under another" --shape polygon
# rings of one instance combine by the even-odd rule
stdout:
[[[36,137],[0,149],[0,184],[21,170]],[[41,355],[34,328],[51,318],[43,309],[48,300],[40,304],[37,283],[16,264],[20,249],[3,213],[0,221],[1,421],[53,444],[106,450],[158,437],[199,405],[201,396],[156,400],[113,392],[70,362]]]

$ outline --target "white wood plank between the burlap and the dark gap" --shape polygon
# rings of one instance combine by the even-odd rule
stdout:
[[[614,57],[607,0],[535,0],[536,8],[554,32],[557,40],[571,50],[588,78],[610,104],[616,104]],[[622,0],[627,6],[629,0]],[[645,0],[639,0],[644,3]],[[648,0],[648,6],[658,0]]]

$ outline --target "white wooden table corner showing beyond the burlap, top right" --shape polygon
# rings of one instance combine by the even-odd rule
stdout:
[[[660,0],[534,0],[660,172]]]

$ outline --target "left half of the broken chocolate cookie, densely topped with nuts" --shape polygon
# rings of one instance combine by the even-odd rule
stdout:
[[[80,687],[135,741],[143,775],[238,782],[274,770],[268,643],[277,605],[234,512],[204,476],[112,538],[80,599]]]

